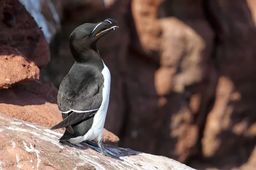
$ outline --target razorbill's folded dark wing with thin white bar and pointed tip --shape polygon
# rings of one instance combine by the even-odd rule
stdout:
[[[74,88],[76,89],[76,87]],[[58,105],[60,111],[66,112],[68,116],[63,116],[66,118],[51,129],[74,125],[96,113],[102,103],[102,88],[103,83],[99,85],[97,79],[93,77],[87,78],[77,91],[71,91],[72,88],[69,85],[61,85],[58,93]]]

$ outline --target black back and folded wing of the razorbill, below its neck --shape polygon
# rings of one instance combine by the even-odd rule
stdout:
[[[102,69],[103,63],[101,62],[97,65],[79,64],[75,62],[67,76],[61,82],[58,91],[59,110],[64,112],[70,110],[90,111],[99,108],[102,103],[104,82],[103,75],[101,74]],[[68,114],[62,113],[62,115],[67,114],[68,116],[63,116],[65,119],[51,129],[69,127],[71,125],[75,126],[76,123],[96,113],[96,111],[85,113],[77,113],[75,111],[70,111]],[[78,133],[74,130],[73,132],[75,134]]]

